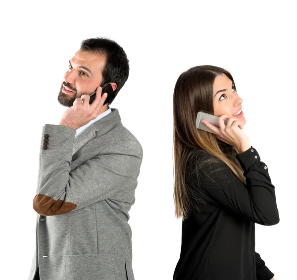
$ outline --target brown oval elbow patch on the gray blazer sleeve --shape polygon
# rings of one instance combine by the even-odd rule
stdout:
[[[42,216],[53,216],[69,213],[76,204],[64,200],[54,200],[45,194],[38,194],[33,199],[33,209]]]

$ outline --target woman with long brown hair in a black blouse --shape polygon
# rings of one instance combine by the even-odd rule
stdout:
[[[242,130],[242,103],[220,67],[190,68],[176,82],[174,200],[183,228],[174,280],[273,280],[254,251],[254,223],[277,224],[279,214],[268,168]],[[204,122],[214,133],[197,129],[199,111],[219,116],[219,128]]]

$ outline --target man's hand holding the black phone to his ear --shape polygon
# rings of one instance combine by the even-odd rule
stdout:
[[[59,125],[69,126],[76,130],[92,119],[97,118],[107,97],[107,93],[101,97],[101,92],[102,88],[98,87],[96,98],[91,105],[89,104],[90,96],[87,94],[83,94],[80,98],[75,99],[73,106],[63,113]],[[82,104],[82,100],[84,100],[84,104]]]

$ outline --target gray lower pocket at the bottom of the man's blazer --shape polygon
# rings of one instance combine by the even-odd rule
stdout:
[[[65,280],[117,280],[110,251],[65,256]]]

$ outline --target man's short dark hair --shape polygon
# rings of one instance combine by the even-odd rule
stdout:
[[[82,51],[98,52],[106,56],[100,86],[106,83],[116,83],[117,87],[114,91],[116,96],[129,77],[129,60],[123,48],[110,39],[97,37],[82,41],[80,49]],[[108,102],[108,106],[112,101]]]

